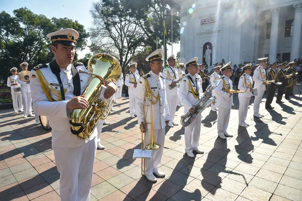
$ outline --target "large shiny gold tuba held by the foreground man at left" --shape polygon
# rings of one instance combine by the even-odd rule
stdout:
[[[97,98],[101,85],[107,81],[116,82],[120,78],[121,68],[118,61],[111,55],[98,53],[88,61],[88,72],[79,71],[92,75],[86,89],[82,93],[89,102],[87,109],[73,109],[70,116],[71,132],[80,140],[86,140],[95,129],[100,119],[107,118],[112,106],[113,99],[109,103]]]

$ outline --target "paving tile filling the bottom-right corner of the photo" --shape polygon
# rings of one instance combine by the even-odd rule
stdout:
[[[278,184],[274,194],[294,201],[300,201],[302,197],[301,190],[291,188],[282,184]]]

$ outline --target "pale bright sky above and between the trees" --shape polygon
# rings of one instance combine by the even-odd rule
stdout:
[[[89,27],[93,26],[92,17],[89,10],[91,8],[92,2],[95,1],[97,0],[52,0],[50,2],[43,0],[0,0],[0,12],[5,11],[8,14],[13,15],[13,11],[15,9],[27,7],[35,14],[43,14],[49,19],[51,19],[52,17],[67,17],[72,20],[77,20],[80,24],[83,24],[85,26],[85,29],[88,32]],[[88,45],[90,45],[89,39]],[[171,46],[167,46],[167,49],[167,54],[172,54]],[[178,51],[180,51],[180,44],[173,44],[173,54],[175,56]],[[89,52],[89,48],[87,47],[83,51],[77,53],[79,54],[79,58],[83,58],[85,54]]]

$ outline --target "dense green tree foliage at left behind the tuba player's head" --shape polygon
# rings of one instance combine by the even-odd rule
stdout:
[[[78,49],[84,49],[88,33],[84,26],[68,18],[48,19],[44,15],[34,14],[31,10],[19,8],[13,11],[14,16],[0,12],[0,63],[2,73],[0,80],[6,82],[12,67],[21,70],[19,64],[26,61],[29,70],[37,64],[48,63],[53,57],[50,51],[48,33],[62,28],[73,28],[81,34],[77,43]],[[76,56],[75,56],[76,59]]]

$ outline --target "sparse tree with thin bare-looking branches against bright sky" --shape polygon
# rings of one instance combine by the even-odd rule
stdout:
[[[138,20],[130,17],[125,0],[99,0],[90,13],[95,25],[90,29],[91,51],[101,49],[116,57],[124,72],[144,37]]]

